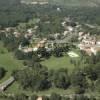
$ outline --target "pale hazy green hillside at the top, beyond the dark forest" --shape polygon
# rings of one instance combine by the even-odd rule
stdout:
[[[23,0],[28,2],[48,1],[50,4],[65,5],[65,6],[89,6],[97,7],[100,5],[100,0]]]

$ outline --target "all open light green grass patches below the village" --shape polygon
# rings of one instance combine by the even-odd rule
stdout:
[[[68,68],[69,72],[71,72],[75,67],[73,64],[70,63],[70,57],[68,55],[65,55],[60,58],[51,57],[50,59],[47,59],[43,62],[41,62],[43,65],[47,66],[48,69],[59,69],[59,68]],[[3,44],[0,42],[0,66],[4,67],[7,70],[7,73],[5,77],[0,80],[0,83],[5,81],[11,76],[11,73],[13,70],[21,69],[23,68],[22,61],[16,60],[14,58],[13,53],[9,53],[4,47]],[[19,84],[17,82],[14,82],[10,87],[7,88],[5,91],[6,93],[26,93],[28,95],[33,94],[32,91],[25,91],[21,89]],[[51,88],[47,91],[37,92],[38,95],[48,95],[52,92],[56,92],[59,94],[70,94],[73,93],[73,89],[57,89],[57,88]]]

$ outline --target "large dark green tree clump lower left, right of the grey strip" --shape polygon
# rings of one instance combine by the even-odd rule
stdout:
[[[13,72],[13,76],[23,89],[42,91],[51,87],[51,82],[48,80],[48,70],[41,65],[17,70]]]

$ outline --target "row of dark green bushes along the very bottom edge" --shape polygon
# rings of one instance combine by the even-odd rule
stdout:
[[[26,96],[25,94],[17,94],[14,97],[7,97],[7,96],[2,96],[2,100],[36,100],[38,98],[37,95],[32,95],[32,96]],[[61,96],[57,93],[52,93],[50,96],[41,96],[43,100],[96,100],[95,97],[88,97],[85,95],[74,95],[69,98],[68,96]]]

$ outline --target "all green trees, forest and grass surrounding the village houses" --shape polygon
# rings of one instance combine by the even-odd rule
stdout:
[[[80,95],[75,95],[73,97],[74,100],[89,100],[83,94],[90,96],[90,91],[99,94],[100,52],[92,56],[81,52],[80,60],[78,60],[70,59],[66,55],[73,48],[71,45],[55,46],[51,52],[47,52],[45,48],[29,53],[18,50],[20,43],[22,46],[29,45],[29,39],[24,36],[28,28],[38,25],[36,34],[40,38],[47,37],[51,33],[61,33],[64,31],[61,22],[67,15],[70,15],[71,18],[73,17],[72,20],[80,23],[87,22],[100,25],[99,7],[78,9],[78,7],[67,8],[50,4],[45,6],[25,5],[20,4],[18,0],[14,0],[11,3],[9,0],[0,2],[0,5],[5,5],[5,7],[0,6],[1,29],[17,25],[16,29],[23,33],[17,38],[12,34],[12,31],[8,33],[0,32],[0,40],[3,42],[3,44],[0,43],[0,66],[2,66],[0,67],[0,83],[12,75],[16,81],[12,86],[15,89],[15,93],[17,92],[16,88],[18,89],[19,87],[21,87],[19,92],[22,90],[21,93],[23,91],[25,93],[15,94],[14,97],[9,99],[28,100],[27,91],[29,91],[30,95],[32,92],[45,93],[45,91],[49,90],[56,92],[57,90],[67,91],[68,89],[73,89],[71,93]],[[61,7],[61,11],[57,11],[57,7]],[[33,22],[33,19],[28,21],[30,18],[37,18],[40,21]],[[27,21],[28,23],[25,23]],[[9,89],[6,92],[9,92]],[[49,97],[45,95],[43,97],[44,100],[66,100],[66,97],[59,94],[52,93],[47,95]],[[36,97],[36,95],[32,95],[30,99],[34,100]],[[70,100],[69,98],[67,99]],[[95,100],[95,98],[91,97],[90,100],[92,99]]]

